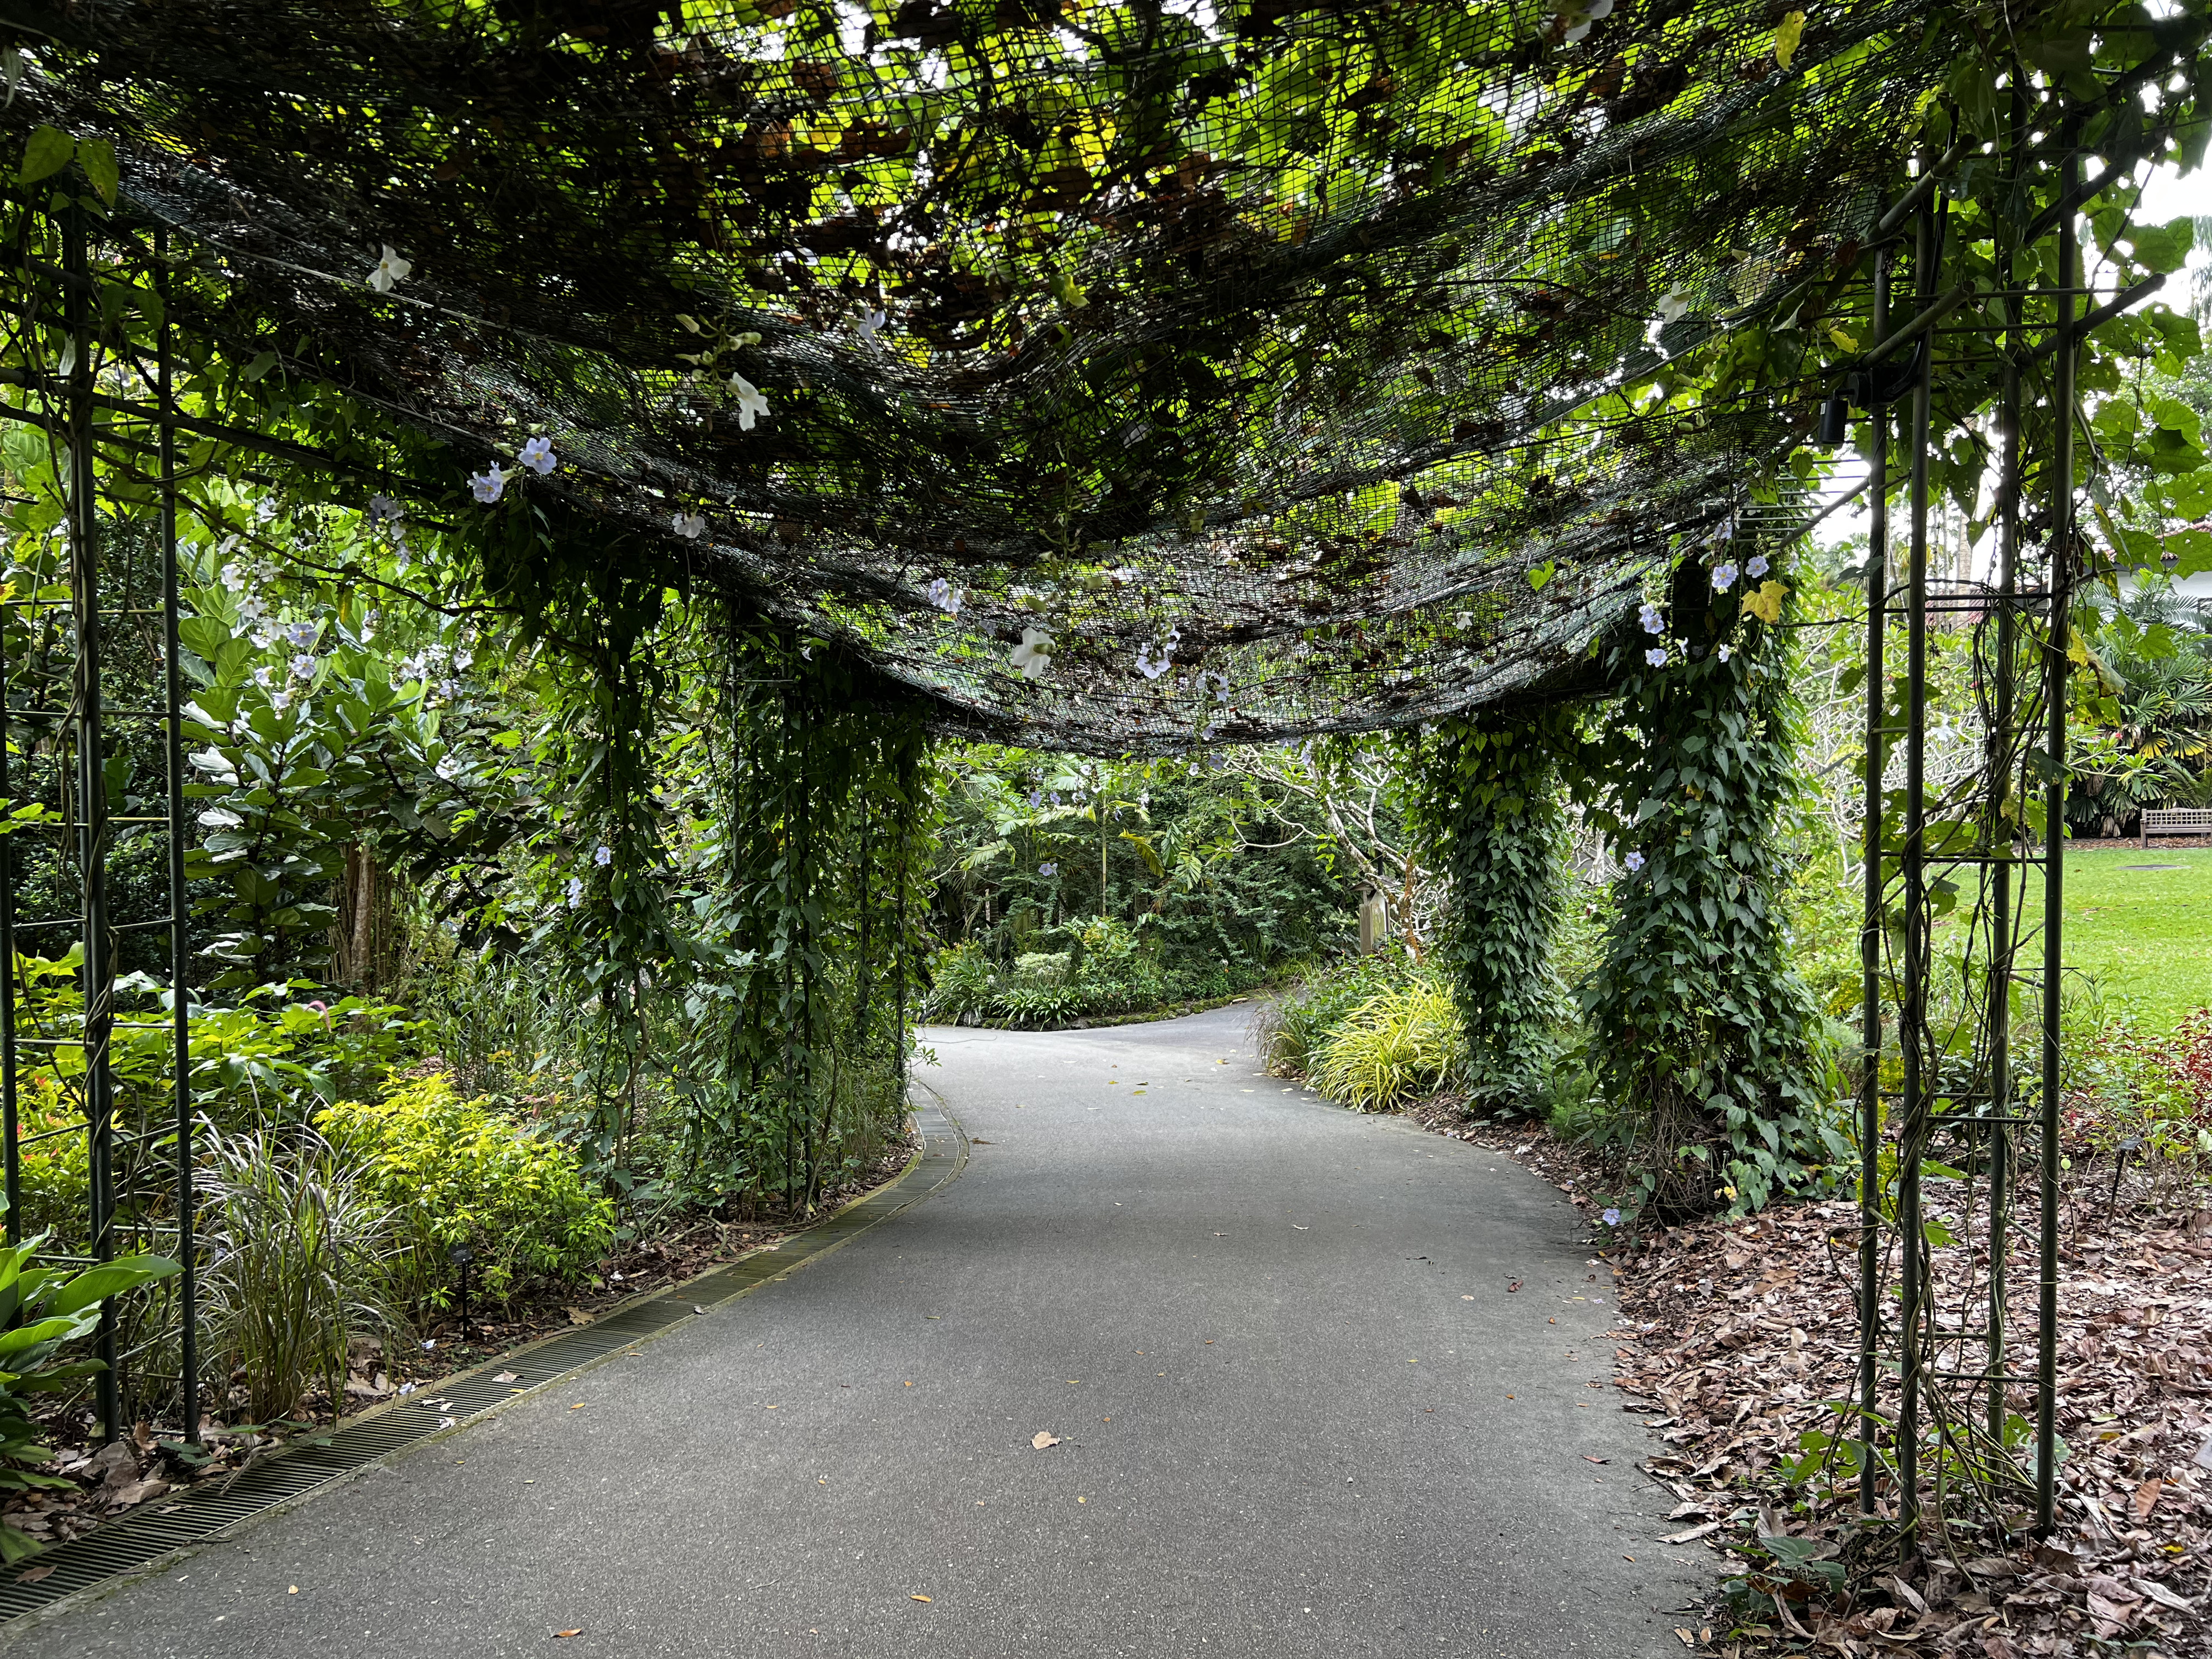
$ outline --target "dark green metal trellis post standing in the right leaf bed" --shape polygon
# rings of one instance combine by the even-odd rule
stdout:
[[[2011,155],[2022,157],[2022,146]],[[2062,161],[2062,199],[2079,192],[2079,159]],[[1911,237],[1913,312],[1929,316],[1938,307],[1938,279],[1944,265],[1944,212],[1933,190],[1920,190],[1918,223]],[[1878,1482],[1887,1475],[1893,1493],[1896,1533],[1907,1557],[1922,1553],[1924,1531],[1962,1520],[1964,1509],[1980,1509],[1980,1520],[2013,1531],[2024,1520],[2033,1493],[2033,1522],[2026,1531],[2048,1535],[2057,1526],[2057,1210],[2059,1210],[2059,1013],[2062,1013],[2062,898],[2066,847],[2066,675],[2068,611],[2073,606],[2075,566],[2075,425],[2079,420],[2075,363],[2086,323],[2079,316],[2081,294],[2077,215],[2046,215],[2046,221],[2000,226],[2000,268],[2006,274],[2006,316],[2002,345],[2002,385],[1997,396],[1997,495],[1995,495],[1995,582],[1971,595],[1938,595],[1929,586],[1929,445],[1931,385],[1936,343],[1918,352],[1907,385],[1869,389],[1860,383],[1871,416],[1869,460],[1869,560],[1867,560],[1867,703],[1865,703],[1865,834],[1863,834],[1863,1006],[1860,1006],[1860,1091],[1856,1102],[1860,1141],[1860,1228],[1858,1228],[1858,1378],[1856,1378],[1856,1469],[1858,1506],[1867,1517],[1880,1511]],[[2008,232],[2011,241],[2002,241]],[[2031,327],[2024,294],[2011,285],[2013,259],[2044,237],[2057,237],[2057,272],[2042,299],[2051,303],[2051,321],[2037,332],[2042,345],[2028,347]],[[1891,250],[1878,250],[1874,268],[1874,325],[1887,338]],[[2132,290],[2130,290],[2132,292]],[[2135,294],[2137,299],[2141,294]],[[2110,307],[2108,307],[2110,310]],[[2042,557],[2042,584],[2024,584],[2022,493],[2026,489],[2022,434],[2022,365],[2055,356],[2051,383],[2048,440],[2048,518],[2051,535]],[[1869,376],[1871,378],[1871,376]],[[1907,478],[1902,495],[1909,515],[1905,568],[1893,568],[1891,451],[1900,434],[1891,434],[1891,405],[1909,400],[1902,434]],[[1986,708],[1984,763],[1975,790],[1964,799],[1940,803],[1940,823],[1931,825],[1924,790],[1927,699],[1929,699],[1929,613],[1958,608],[1969,599],[1982,613],[1975,628],[1993,628],[1993,661],[1986,675],[1991,703]],[[1905,624],[1905,664],[1896,684],[1889,664],[1896,657],[1889,624]],[[1980,650],[1980,641],[1978,641]],[[1898,692],[1898,703],[1891,703]],[[1885,783],[1889,768],[1902,761],[1902,825],[1885,834]],[[2035,779],[2044,787],[2042,845],[2024,845],[2031,825],[2026,803]],[[2013,821],[2006,803],[2020,803]],[[1931,830],[1938,830],[1931,838]],[[2022,929],[2028,878],[2042,869],[2042,962],[2039,973],[2022,973],[2026,949]],[[1980,902],[1966,920],[1966,945],[1960,958],[1969,1006],[1949,1026],[1951,1042],[1938,1042],[1931,1000],[1936,993],[1936,960],[1931,949],[1931,891],[1951,874],[1973,872]],[[2017,883],[2017,889],[2015,889]],[[1962,883],[1964,885],[1964,883]],[[1896,949],[1885,973],[1885,951]],[[1896,1062],[1898,1088],[1885,1088],[1885,980],[1896,984]],[[2011,995],[2015,987],[2039,991],[2039,1064],[2033,1084],[2022,1088],[2011,1042]],[[1975,1000],[1978,989],[1978,1000]],[[1969,1064],[1960,1068],[1960,1037]],[[2024,1071],[2024,1068],[2022,1068]],[[1966,1243],[1966,1267],[1938,1261],[1929,1248],[1929,1228],[1938,1217],[1922,1190],[1922,1164],[1933,1135],[1958,1137],[1966,1148],[1964,1201],[1940,1206],[1964,1217],[1960,1241]],[[2011,1371],[2011,1254],[2015,1192],[2020,1188],[2017,1152],[2026,1139],[2035,1159],[2037,1243],[2033,1252],[2037,1310],[2033,1369]],[[1896,1190],[1882,1177],[1882,1152],[1896,1148]],[[1978,1186],[1986,1203],[1978,1208]],[[1980,1214],[1980,1221],[1975,1221]],[[1975,1228],[1980,1232],[1975,1234]],[[1986,1279],[1975,1281],[1973,1245],[1986,1248]],[[1885,1267],[1893,1261],[1893,1270]],[[1896,1316],[1885,1318],[1889,1294],[1896,1294]],[[1966,1316],[1980,1310],[1975,1329]],[[1944,1323],[1955,1316],[1955,1323]],[[1978,1365],[1966,1369],[1964,1349],[1980,1345]],[[1953,1360],[1947,1365],[1947,1360]],[[1951,1385],[1978,1394],[1980,1409],[1960,1409]],[[2033,1389],[2033,1467],[2022,1469],[2008,1444],[2008,1389]],[[1893,1413],[1885,1420],[1885,1402]],[[1922,1418],[1927,1422],[1922,1422]],[[1975,1420],[1980,1418],[1980,1422]],[[1887,1436],[1885,1436],[1887,1427]],[[1840,1436],[1838,1436],[1840,1438]],[[1887,1440],[1887,1447],[1885,1447]],[[2013,1436],[2017,1442],[2017,1436]],[[2020,1447],[2026,1451],[2026,1447]],[[1933,1451],[1933,1469],[1922,1455]],[[1949,1502],[1955,1486],[1975,1489],[1978,1504]],[[1933,1484],[1933,1504],[1929,1502]],[[2011,1502],[2008,1502],[2011,1500]]]

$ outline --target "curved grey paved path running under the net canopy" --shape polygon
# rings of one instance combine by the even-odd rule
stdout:
[[[925,1033],[945,1192],[7,1646],[1679,1655],[1571,1206],[1243,1024]]]

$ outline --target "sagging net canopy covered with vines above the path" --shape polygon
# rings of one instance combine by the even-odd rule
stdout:
[[[1088,750],[1588,690],[1686,538],[1794,533],[1816,389],[1666,365],[1849,276],[1958,49],[1765,0],[7,20],[0,119],[113,135],[177,321],[442,442],[422,507],[619,529]]]

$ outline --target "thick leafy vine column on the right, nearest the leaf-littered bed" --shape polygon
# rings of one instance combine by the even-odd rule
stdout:
[[[1661,1217],[1756,1210],[1849,1150],[1778,909],[1798,787],[1785,602],[1787,582],[1732,542],[1683,560],[1606,648],[1619,699],[1582,757],[1626,869],[1584,1018]]]

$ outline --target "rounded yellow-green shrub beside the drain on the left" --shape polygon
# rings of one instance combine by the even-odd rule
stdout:
[[[400,1294],[420,1307],[445,1305],[458,1243],[476,1254],[482,1294],[504,1301],[533,1276],[575,1279],[615,1241],[615,1206],[571,1148],[489,1099],[460,1099],[445,1073],[400,1082],[374,1106],[332,1106],[316,1128],[392,1206],[407,1245]]]

